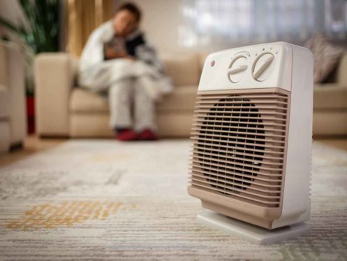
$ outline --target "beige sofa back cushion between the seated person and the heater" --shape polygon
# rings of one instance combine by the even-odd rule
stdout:
[[[177,86],[198,85],[200,78],[199,57],[197,54],[161,55],[166,74],[172,78]]]

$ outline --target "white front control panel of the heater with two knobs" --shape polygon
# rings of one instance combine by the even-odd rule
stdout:
[[[276,42],[214,52],[205,60],[199,91],[279,87],[290,91],[293,49]]]

